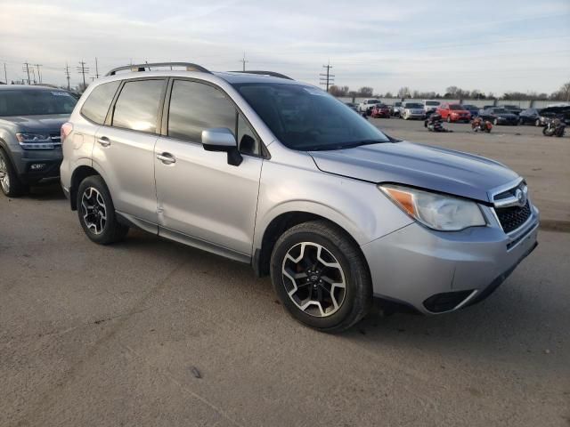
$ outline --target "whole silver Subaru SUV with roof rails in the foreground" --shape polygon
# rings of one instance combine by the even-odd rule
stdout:
[[[275,73],[164,65],[116,68],[62,126],[62,187],[96,243],[137,227],[247,262],[329,332],[374,299],[481,301],[536,246],[538,211],[504,165],[397,141]]]

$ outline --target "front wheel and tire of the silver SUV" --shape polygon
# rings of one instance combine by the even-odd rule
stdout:
[[[292,268],[304,277],[293,280],[287,275]],[[303,325],[322,332],[342,332],[366,316],[371,308],[368,265],[345,231],[330,222],[304,222],[285,231],[273,247],[271,278],[275,293],[289,314]],[[344,288],[330,286],[342,282]]]

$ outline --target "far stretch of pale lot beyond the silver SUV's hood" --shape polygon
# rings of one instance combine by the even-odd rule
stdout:
[[[453,133],[431,133],[419,120],[373,118],[388,134],[407,141],[458,149],[490,157],[525,177],[542,226],[570,231],[570,134],[545,137],[542,127],[495,126],[474,133],[467,124],[445,124]]]

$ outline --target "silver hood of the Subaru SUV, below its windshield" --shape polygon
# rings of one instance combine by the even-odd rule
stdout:
[[[323,172],[407,184],[484,202],[491,202],[488,191],[518,178],[517,173],[485,157],[407,141],[310,154]]]

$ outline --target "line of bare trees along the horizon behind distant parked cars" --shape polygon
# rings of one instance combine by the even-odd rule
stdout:
[[[457,99],[457,100],[551,100],[551,101],[570,101],[570,82],[560,86],[558,91],[553,93],[537,93],[537,92],[506,92],[501,96],[495,95],[493,92],[485,93],[474,89],[472,91],[461,89],[457,86],[449,86],[445,89],[445,93],[412,91],[408,86],[401,87],[397,93],[374,93],[374,89],[370,86],[362,86],[357,91],[351,91],[348,86],[332,85],[329,93],[333,96],[347,96],[359,98],[421,98],[421,99]]]

